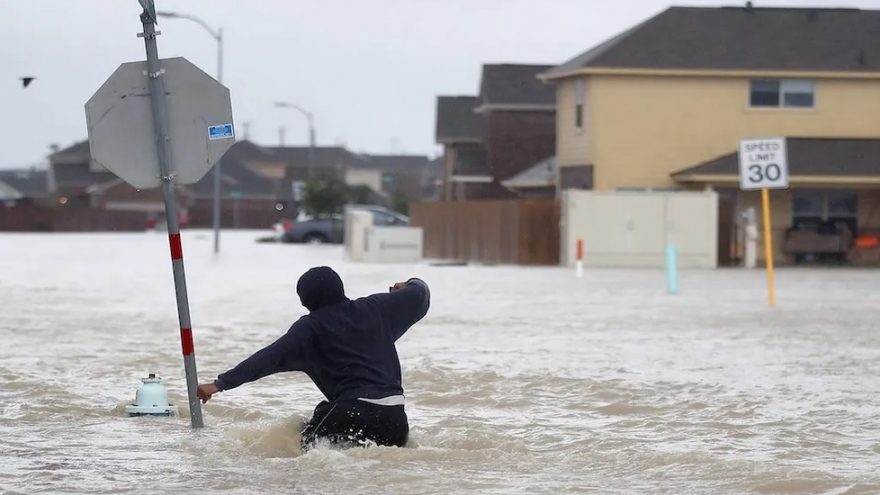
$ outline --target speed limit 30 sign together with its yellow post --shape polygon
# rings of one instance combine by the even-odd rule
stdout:
[[[767,294],[776,304],[773,286],[773,238],[770,229],[770,189],[788,188],[788,153],[785,138],[743,139],[739,142],[740,188],[761,190],[764,210],[764,258],[767,260]]]

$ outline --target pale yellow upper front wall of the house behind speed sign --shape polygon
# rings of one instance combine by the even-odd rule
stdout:
[[[595,164],[597,190],[674,185],[670,173],[731,153],[745,137],[880,135],[880,81],[817,80],[814,109],[750,109],[745,78],[590,79],[592,147],[567,145],[563,153],[568,164]],[[573,101],[573,80],[560,92],[562,107],[573,111],[564,104]],[[559,120],[561,143],[568,143],[573,116],[563,110]]]

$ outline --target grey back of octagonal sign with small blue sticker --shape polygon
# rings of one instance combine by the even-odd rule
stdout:
[[[235,142],[229,89],[183,57],[162,59],[170,169],[194,184]],[[161,185],[146,62],[129,62],[86,103],[92,159],[137,189]]]

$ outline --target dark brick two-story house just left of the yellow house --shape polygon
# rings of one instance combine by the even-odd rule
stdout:
[[[484,64],[477,96],[438,97],[445,199],[515,197],[504,181],[553,156],[556,92],[537,78],[551,68]]]

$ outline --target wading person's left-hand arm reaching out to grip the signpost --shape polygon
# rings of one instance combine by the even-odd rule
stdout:
[[[311,322],[307,319],[298,320],[281,338],[255,352],[229,371],[220,374],[213,384],[200,386],[199,396],[202,397],[204,393],[207,398],[202,397],[202,400],[207,401],[216,392],[232,390],[275,373],[304,371],[306,343],[311,336]]]

